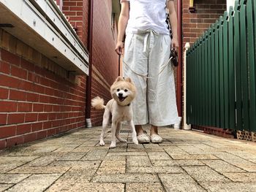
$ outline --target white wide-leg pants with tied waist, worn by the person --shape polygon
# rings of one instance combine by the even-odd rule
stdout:
[[[127,34],[123,72],[138,90],[132,101],[135,125],[167,126],[179,122],[173,66],[167,64],[170,41],[169,35],[151,30]]]

